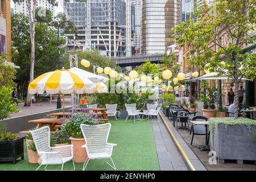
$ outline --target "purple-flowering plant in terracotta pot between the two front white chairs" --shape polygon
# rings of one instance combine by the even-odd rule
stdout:
[[[85,148],[82,148],[85,144],[85,140],[82,136],[80,128],[81,124],[96,125],[96,119],[92,118],[92,115],[86,115],[82,113],[73,114],[71,118],[67,119],[63,126],[63,130],[71,136],[69,139],[73,144],[73,155],[76,163],[83,163],[87,159]]]

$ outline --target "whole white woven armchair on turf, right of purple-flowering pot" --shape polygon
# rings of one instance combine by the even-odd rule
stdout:
[[[86,148],[86,153],[88,158],[85,160],[82,170],[84,171],[90,159],[111,159],[112,165],[106,162],[114,170],[115,164],[112,159],[113,147],[117,146],[114,143],[108,143],[109,132],[111,129],[110,123],[105,123],[102,125],[80,125],[82,130],[82,135],[84,135],[85,145],[82,146]]]

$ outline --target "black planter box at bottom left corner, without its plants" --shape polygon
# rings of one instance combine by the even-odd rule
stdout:
[[[24,159],[24,139],[18,138],[11,141],[0,142],[0,161],[12,161],[16,164],[16,159]]]

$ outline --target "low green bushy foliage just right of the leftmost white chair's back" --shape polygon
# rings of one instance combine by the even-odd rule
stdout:
[[[64,146],[70,144],[69,134],[64,130],[56,130],[51,134],[51,140],[54,146]]]

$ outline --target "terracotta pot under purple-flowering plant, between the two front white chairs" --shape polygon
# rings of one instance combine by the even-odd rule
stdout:
[[[76,163],[84,163],[87,159],[87,153],[85,148],[81,147],[85,144],[84,138],[69,138],[71,144],[73,144],[73,155]]]

